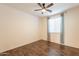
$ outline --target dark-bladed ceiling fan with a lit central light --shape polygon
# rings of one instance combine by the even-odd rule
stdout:
[[[46,6],[46,4],[45,3],[37,3],[40,7],[41,7],[41,9],[36,9],[36,10],[34,10],[34,11],[42,11],[42,14],[44,13],[44,12],[52,12],[52,10],[50,10],[50,9],[48,9],[49,7],[51,7],[51,6],[53,6],[54,4],[53,3],[50,3],[49,5],[47,5]]]

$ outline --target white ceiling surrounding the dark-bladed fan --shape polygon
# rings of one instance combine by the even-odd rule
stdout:
[[[79,6],[79,3],[54,3],[54,5],[49,8],[52,10],[52,12],[46,12],[44,14],[41,14],[41,11],[34,11],[35,9],[40,9],[40,7],[36,3],[9,3],[5,5],[37,16],[50,16],[64,12],[72,7]]]

